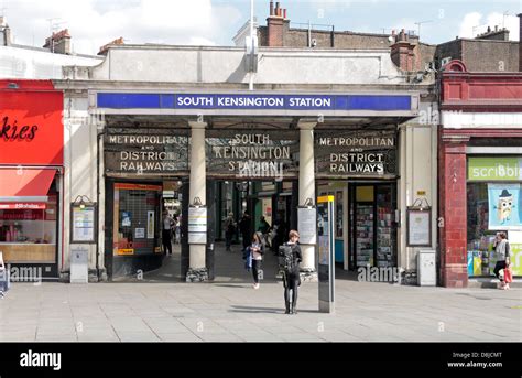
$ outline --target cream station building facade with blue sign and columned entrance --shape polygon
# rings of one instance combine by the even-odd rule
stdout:
[[[260,55],[251,74],[240,47],[126,45],[96,67],[64,68],[55,86],[67,105],[65,202],[98,204],[97,242],[88,247],[98,277],[161,264],[162,202],[173,182],[185,199],[182,273],[191,280],[213,278],[231,186],[246,205],[236,209],[293,228],[297,207],[333,194],[337,262],[415,270],[406,208],[418,197],[437,203],[436,126],[426,117],[436,111],[433,79],[410,83],[387,50]],[[303,250],[302,269],[313,276],[315,245]]]

